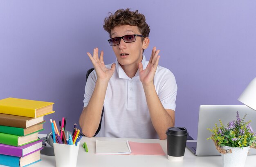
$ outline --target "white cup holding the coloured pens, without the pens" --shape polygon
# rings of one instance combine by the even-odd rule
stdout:
[[[73,145],[53,143],[56,167],[76,167],[80,142]]]

